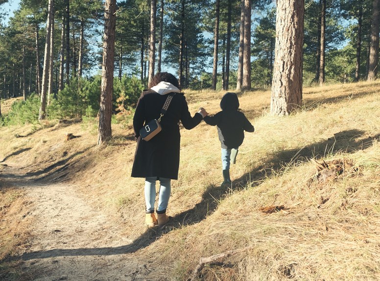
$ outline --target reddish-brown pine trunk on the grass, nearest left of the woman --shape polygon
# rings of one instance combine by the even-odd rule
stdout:
[[[99,109],[99,134],[97,143],[108,141],[112,136],[112,93],[114,90],[116,0],[106,0],[104,5],[103,64]]]

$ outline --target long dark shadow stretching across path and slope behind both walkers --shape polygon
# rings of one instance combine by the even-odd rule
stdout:
[[[258,186],[260,185],[260,180],[270,175],[272,171],[281,171],[288,164],[297,163],[298,161],[309,161],[310,158],[323,157],[327,153],[336,153],[339,151],[353,153],[357,150],[371,147],[374,140],[380,139],[380,134],[361,139],[364,134],[365,132],[360,130],[346,130],[334,134],[331,138],[325,141],[275,153],[267,158],[268,160],[266,161],[265,166],[257,167],[250,173],[244,174],[239,179],[234,180],[233,185],[228,187],[211,185],[207,187],[202,195],[201,202],[195,204],[194,208],[175,215],[164,227],[147,229],[141,236],[134,240],[132,244],[119,247],[53,249],[43,252],[26,253],[23,254],[21,258],[23,260],[28,260],[59,256],[109,256],[134,253],[140,249],[148,247],[162,235],[174,229],[196,224],[204,220],[207,215],[216,211],[220,202],[228,195],[231,189],[244,189],[247,184],[247,179],[250,179],[251,183],[256,182],[256,186]],[[20,257],[13,257],[11,259],[20,259]]]

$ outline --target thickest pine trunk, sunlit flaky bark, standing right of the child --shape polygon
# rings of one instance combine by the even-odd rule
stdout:
[[[270,111],[288,115],[302,102],[304,0],[278,0]]]

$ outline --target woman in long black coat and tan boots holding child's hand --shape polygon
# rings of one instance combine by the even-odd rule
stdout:
[[[169,221],[166,208],[170,197],[170,180],[178,179],[180,132],[179,121],[190,130],[207,116],[205,109],[191,117],[184,93],[178,80],[167,72],[157,73],[137,102],[133,117],[133,129],[137,139],[132,177],[145,178],[145,223],[148,227],[162,226]],[[172,96],[165,115],[161,118],[162,131],[149,141],[140,137],[140,129],[145,123],[160,117],[168,95]],[[156,201],[156,181],[160,181],[157,218],[154,214]]]

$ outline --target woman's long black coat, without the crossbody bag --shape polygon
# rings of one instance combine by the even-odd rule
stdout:
[[[149,141],[140,137],[140,129],[145,123],[160,117],[160,112],[168,94],[158,94],[153,90],[144,90],[137,102],[133,117],[133,129],[137,146],[132,167],[132,177],[163,177],[178,179],[180,141],[179,121],[190,130],[202,121],[202,115],[193,117],[182,93],[169,93],[173,96],[170,105],[161,118],[162,131]]]

